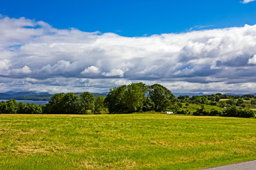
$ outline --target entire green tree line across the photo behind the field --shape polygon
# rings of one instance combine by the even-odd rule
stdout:
[[[225,101],[221,101],[221,99]],[[134,113],[146,111],[172,111],[178,114],[191,115],[220,115],[235,117],[254,117],[255,113],[245,108],[244,99],[250,98],[251,106],[256,105],[255,96],[228,96],[212,94],[206,96],[178,96],[161,84],[147,86],[144,83],[132,83],[110,89],[106,97],[94,97],[89,92],[82,94],[54,94],[50,101],[43,106],[29,103],[17,103],[11,99],[0,103],[0,113],[27,113],[27,114],[100,114],[108,113]],[[201,106],[195,112],[183,108],[183,105],[196,104]],[[206,111],[205,105],[227,107],[224,111]],[[234,112],[234,113],[232,113]]]

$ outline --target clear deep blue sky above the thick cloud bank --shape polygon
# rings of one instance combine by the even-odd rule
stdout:
[[[54,28],[142,36],[182,33],[195,26],[227,28],[254,25],[256,2],[240,0],[74,0],[1,1],[0,13],[44,21]]]

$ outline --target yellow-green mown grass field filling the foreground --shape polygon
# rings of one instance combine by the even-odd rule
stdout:
[[[0,169],[200,169],[256,159],[256,119],[0,115]]]

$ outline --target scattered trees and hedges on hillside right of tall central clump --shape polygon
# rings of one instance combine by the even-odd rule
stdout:
[[[255,112],[250,109],[245,109],[245,107],[250,108],[250,106],[256,106],[255,96],[252,94],[247,94],[243,96],[232,96],[227,94],[212,94],[205,96],[178,96],[178,101],[181,103],[189,103],[201,105],[201,108],[197,108],[195,112],[190,113],[186,110],[178,110],[178,114],[192,114],[192,115],[220,115],[220,116],[230,116],[230,117],[240,117],[240,118],[250,118],[255,117]],[[247,101],[247,104],[245,104]],[[249,103],[248,103],[249,102]],[[205,105],[219,106],[224,108],[223,111],[217,111],[212,109],[206,111]]]

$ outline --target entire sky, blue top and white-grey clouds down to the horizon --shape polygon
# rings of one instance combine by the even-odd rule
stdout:
[[[256,1],[2,0],[0,92],[256,93]]]

